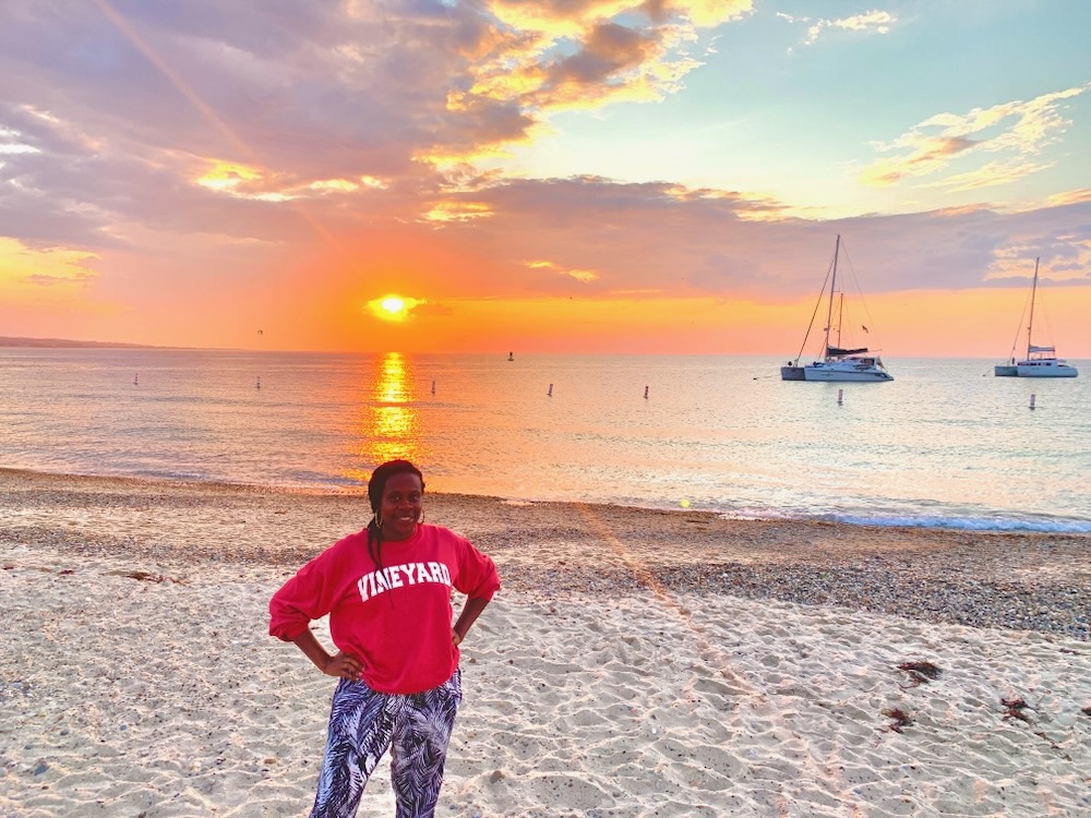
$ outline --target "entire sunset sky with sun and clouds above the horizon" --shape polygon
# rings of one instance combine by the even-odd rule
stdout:
[[[1035,260],[1034,342],[1091,358],[1088,32],[1083,0],[0,0],[0,336],[787,360],[836,248],[842,340],[888,363],[1018,354]]]

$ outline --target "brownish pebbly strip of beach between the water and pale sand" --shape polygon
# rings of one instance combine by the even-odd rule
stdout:
[[[279,576],[361,527],[365,503],[352,494],[0,470],[0,542],[127,555],[134,567],[185,573],[212,562]],[[213,508],[209,537],[195,541],[194,518]],[[493,556],[504,593],[542,601],[728,594],[1091,641],[1088,536],[726,520],[465,495],[429,495],[425,509]],[[257,539],[267,546],[232,548],[239,525],[250,534],[266,528]]]

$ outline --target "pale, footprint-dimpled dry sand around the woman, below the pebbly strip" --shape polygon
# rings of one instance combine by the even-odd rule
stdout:
[[[87,485],[51,490],[73,484]],[[194,550],[256,548],[293,512],[276,495],[240,513],[231,493],[196,512],[182,488],[154,493],[131,510],[3,495],[3,818],[309,811],[335,681],[266,636],[268,597],[291,567],[141,545],[169,530],[195,532]],[[255,508],[249,534],[228,527]],[[131,551],[72,545],[108,534],[133,538]],[[587,553],[550,540],[548,554],[564,548],[570,569]],[[502,573],[519,561],[532,554],[497,560]],[[898,670],[909,661],[942,675],[914,686]],[[463,670],[437,816],[1091,815],[1091,649],[1077,639],[654,581],[552,598],[505,588]],[[1002,699],[1024,700],[1029,721],[1006,718]],[[894,709],[911,719],[900,733]],[[388,782],[384,761],[361,817],[394,815]]]

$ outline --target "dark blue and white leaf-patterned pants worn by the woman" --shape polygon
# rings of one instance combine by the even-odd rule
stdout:
[[[461,699],[460,670],[439,687],[409,695],[377,693],[363,682],[341,679],[334,691],[311,818],[352,818],[387,749],[397,818],[432,818]]]

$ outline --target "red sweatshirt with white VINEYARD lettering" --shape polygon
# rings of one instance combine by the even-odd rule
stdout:
[[[269,634],[291,641],[329,614],[334,645],[360,661],[369,687],[431,689],[458,666],[451,589],[492,599],[496,566],[469,540],[428,525],[408,540],[382,543],[380,561],[382,570],[368,554],[367,529],[334,543],[273,594]]]

